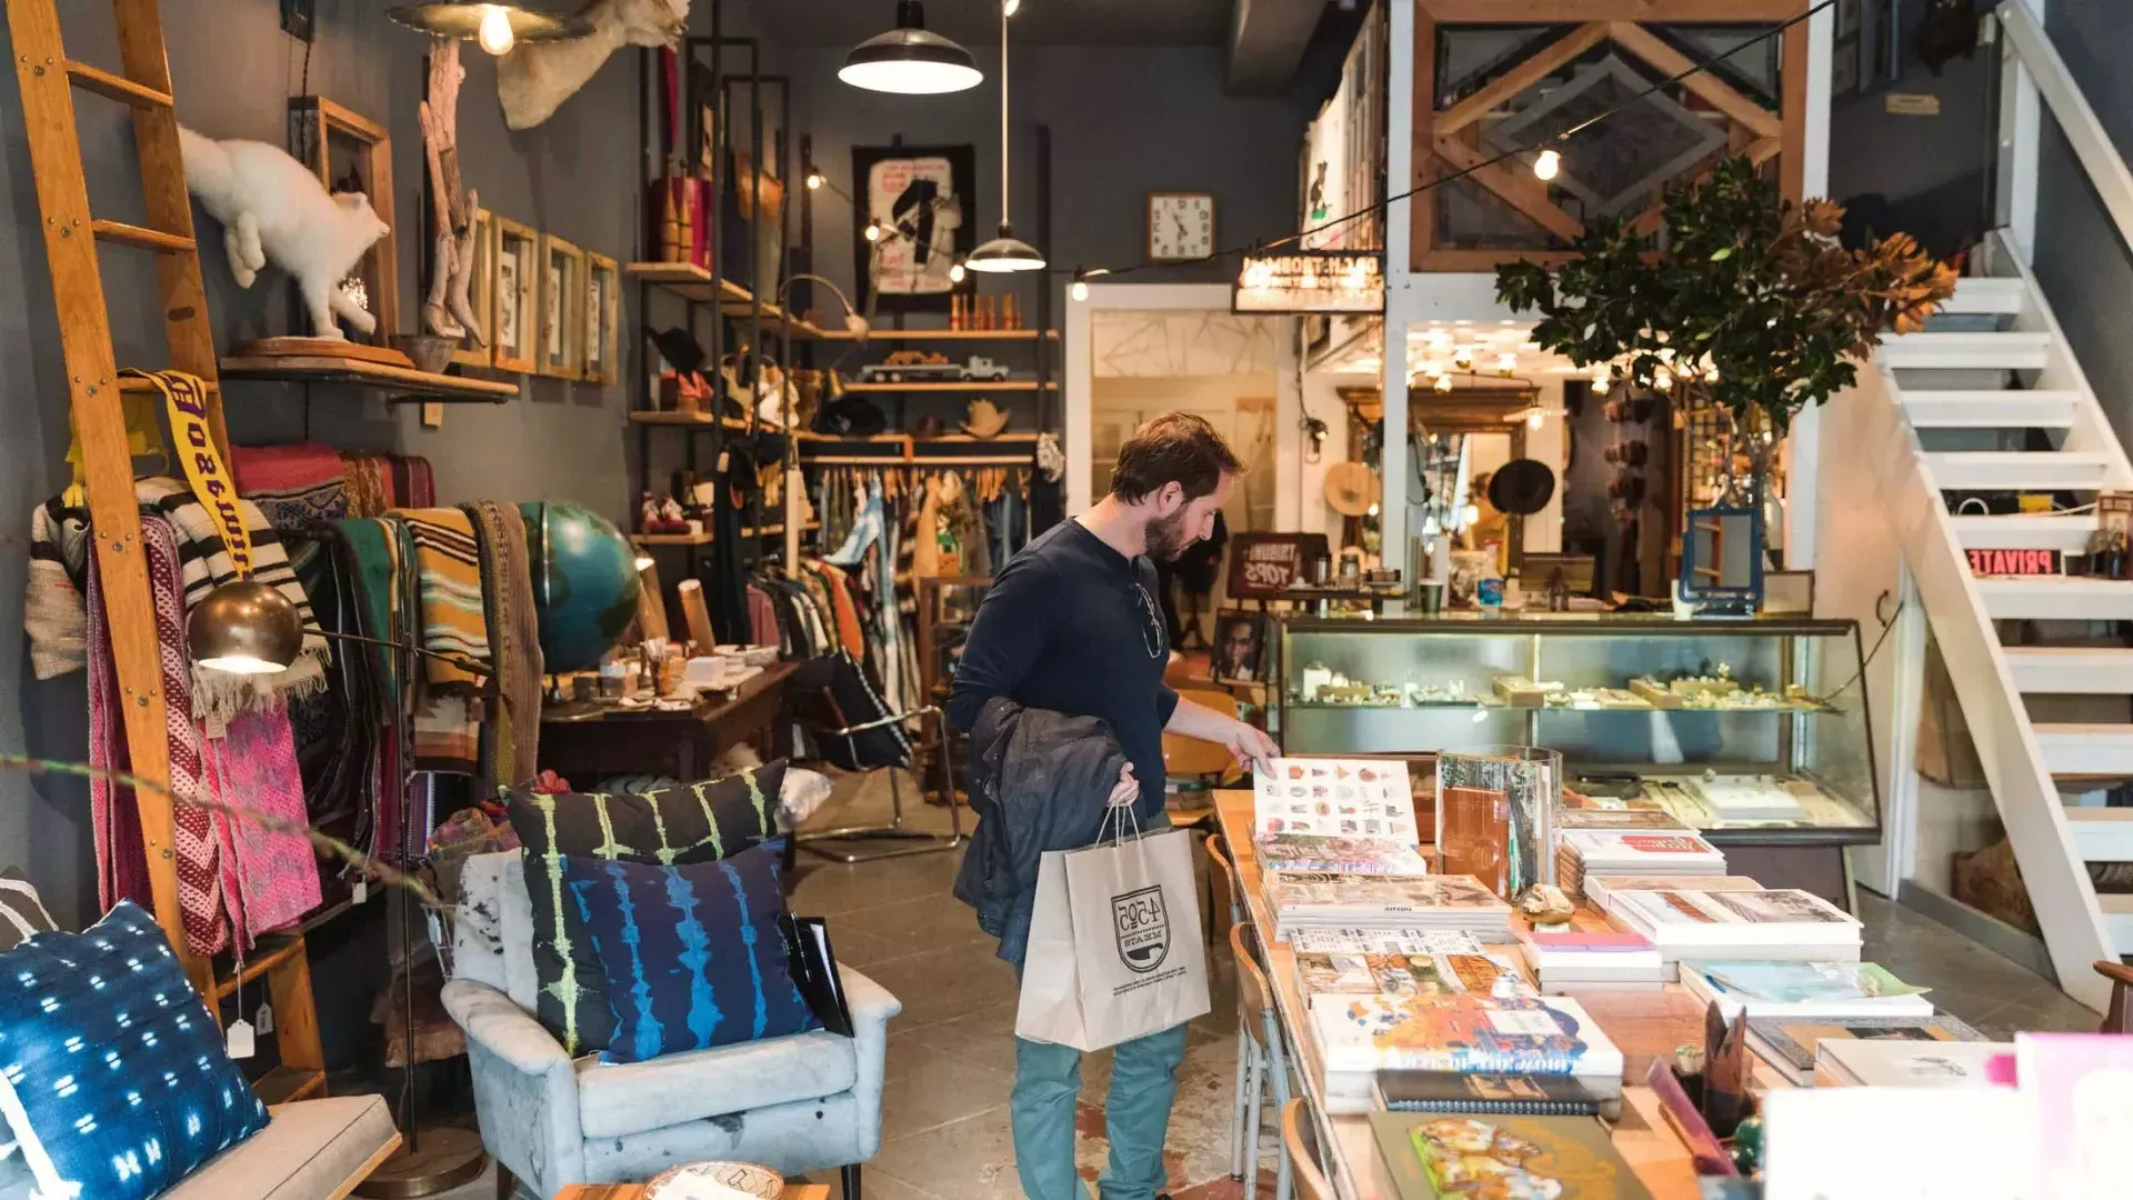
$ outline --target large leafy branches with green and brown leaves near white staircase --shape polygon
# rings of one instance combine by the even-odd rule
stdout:
[[[1719,410],[1728,461],[1747,463],[1721,502],[1760,508],[1794,414],[1851,386],[1883,329],[1920,329],[1956,293],[1956,269],[1907,233],[1847,250],[1843,205],[1785,201],[1747,158],[1670,188],[1662,214],[1655,233],[1593,218],[1576,258],[1497,267],[1495,295],[1540,314],[1544,350]]]

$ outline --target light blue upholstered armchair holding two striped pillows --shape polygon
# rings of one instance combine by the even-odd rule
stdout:
[[[478,854],[459,886],[444,1006],[467,1031],[482,1142],[535,1196],[642,1183],[668,1166],[759,1162],[787,1177],[881,1149],[881,1061],[902,1008],[843,969],[855,1038],[800,1033],[644,1063],[572,1061],[533,1021],[533,910],[516,852]]]

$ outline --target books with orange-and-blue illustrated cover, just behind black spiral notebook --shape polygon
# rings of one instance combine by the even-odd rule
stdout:
[[[1333,1112],[1621,1112],[1621,1051],[1559,995],[1363,995],[1312,1008]]]

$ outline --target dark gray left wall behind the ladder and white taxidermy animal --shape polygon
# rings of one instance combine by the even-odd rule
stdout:
[[[109,4],[60,4],[75,58],[117,70]],[[309,51],[309,92],[382,120],[392,135],[403,325],[416,320],[416,233],[422,194],[422,98],[427,38],[392,26],[378,0],[320,0]],[[286,98],[305,92],[305,47],[279,30],[273,0],[166,0],[164,34],[179,117],[213,137],[284,145]],[[742,4],[725,0],[727,32],[747,32]],[[700,32],[708,6],[697,4]],[[4,36],[4,34],[0,34]],[[13,53],[13,49],[9,51]],[[503,216],[557,233],[587,250],[631,258],[638,226],[636,51],[623,51],[544,126],[508,132],[495,100],[495,68],[471,45],[463,62],[459,143],[467,181]],[[124,109],[77,92],[90,199],[98,216],[141,218],[132,130]],[[64,365],[36,190],[23,139],[21,96],[0,88],[0,749],[81,760],[85,696],[81,675],[36,683],[21,636],[23,562],[30,508],[66,483]],[[220,248],[198,214],[203,248]],[[154,335],[151,263],[130,250],[102,256],[105,293],[119,363],[166,361]],[[286,286],[269,273],[239,290],[226,258],[203,254],[218,344],[284,333]],[[634,307],[634,295],[625,303]],[[634,329],[625,312],[623,329]],[[638,369],[623,337],[623,378]],[[525,382],[525,380],[523,380]],[[616,519],[625,515],[623,412],[627,389],[529,380],[503,406],[450,406],[442,429],[420,429],[410,406],[392,412],[365,393],[286,384],[230,384],[226,412],[239,444],[299,440],[341,448],[392,448],[435,463],[446,504],[499,498],[570,498]],[[55,916],[79,922],[96,912],[87,788],[73,779],[0,771],[0,865],[19,865],[51,899]]]

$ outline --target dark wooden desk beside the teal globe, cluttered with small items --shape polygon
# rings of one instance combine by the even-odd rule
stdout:
[[[772,662],[732,692],[715,694],[685,713],[614,709],[606,705],[548,705],[540,720],[540,764],[574,786],[602,775],[642,775],[672,769],[680,781],[702,779],[727,749],[764,741],[776,754],[779,713],[793,664]],[[580,777],[582,775],[582,777]]]

